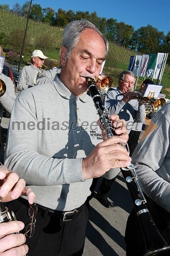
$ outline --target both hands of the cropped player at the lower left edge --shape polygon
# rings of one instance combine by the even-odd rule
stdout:
[[[35,194],[31,188],[26,188],[26,182],[19,179],[18,175],[10,172],[7,167],[0,166],[0,197],[4,202],[17,199],[21,195],[28,196],[28,201],[33,204]],[[0,256],[17,255],[23,256],[28,252],[26,236],[17,233],[24,228],[21,221],[0,223]]]

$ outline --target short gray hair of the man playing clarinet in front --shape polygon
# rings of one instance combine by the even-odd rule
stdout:
[[[109,48],[108,40],[99,31],[99,29],[95,27],[94,24],[89,22],[87,19],[82,19],[82,20],[73,20],[72,22],[68,23],[67,26],[64,28],[62,46],[65,46],[67,48],[67,58],[70,57],[72,49],[76,47],[79,41],[79,38],[85,29],[92,29],[98,32],[102,36],[106,45],[106,53],[105,53],[105,57],[106,57],[108,53],[108,48]]]

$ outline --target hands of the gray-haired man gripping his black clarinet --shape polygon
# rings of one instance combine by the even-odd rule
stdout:
[[[131,163],[126,148],[118,144],[126,144],[128,141],[126,122],[123,119],[119,120],[117,115],[112,115],[110,119],[113,121],[113,126],[116,128],[115,134],[118,136],[106,139],[107,135],[102,129],[104,141],[96,145],[90,155],[83,159],[84,179],[100,177],[111,168],[125,167]]]

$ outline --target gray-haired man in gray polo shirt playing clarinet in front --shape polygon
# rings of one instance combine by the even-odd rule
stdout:
[[[87,95],[86,78],[97,80],[107,52],[108,41],[93,24],[70,22],[60,49],[61,73],[21,92],[14,105],[5,163],[34,189],[38,207],[28,255],[82,255],[92,178],[130,164],[118,144],[128,140],[125,121],[113,115],[119,136],[106,139]],[[27,205],[24,197],[9,203],[25,223]]]

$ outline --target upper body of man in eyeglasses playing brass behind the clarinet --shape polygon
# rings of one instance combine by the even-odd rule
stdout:
[[[111,89],[105,98],[105,106],[109,114],[118,114],[127,122],[128,134],[130,133],[134,121],[143,122],[145,109],[142,103],[139,103],[137,94],[131,92],[135,83],[135,75],[131,71],[123,71],[119,74],[117,89]]]

